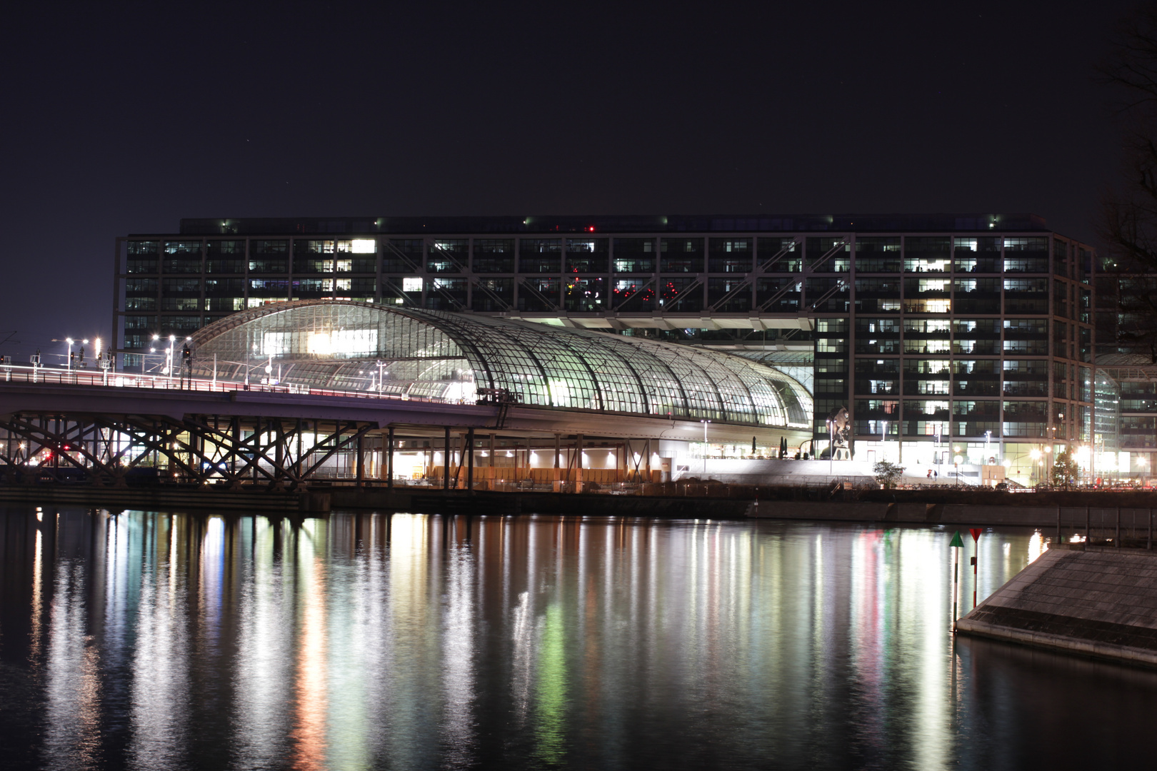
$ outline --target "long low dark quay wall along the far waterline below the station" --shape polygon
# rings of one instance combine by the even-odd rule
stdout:
[[[1141,542],[1152,538],[1151,512],[1157,499],[1151,494],[1118,497],[1093,494],[1081,505],[1079,494],[1057,498],[1049,494],[996,495],[965,503],[938,501],[921,503],[911,498],[892,501],[790,501],[767,499],[772,494],[793,490],[762,490],[745,487],[656,485],[650,495],[610,495],[606,492],[550,492],[535,490],[476,491],[437,488],[334,485],[311,491],[279,491],[264,488],[227,490],[218,487],[95,487],[67,484],[0,485],[0,502],[57,503],[130,509],[207,509],[241,511],[325,512],[333,509],[376,509],[419,513],[452,514],[580,514],[605,517],[670,517],[684,519],[803,519],[815,521],[872,522],[896,525],[950,525],[966,527],[1039,527],[1055,533],[1057,514],[1063,532],[1089,533],[1100,538]],[[670,489],[668,489],[670,488]],[[679,495],[679,492],[687,495]],[[690,495],[694,492],[695,495]],[[886,491],[880,491],[886,492]],[[964,496],[970,494],[965,492]],[[759,501],[753,498],[759,496]],[[1064,502],[1064,505],[1062,505]],[[1014,505],[1014,503],[1032,505]]]

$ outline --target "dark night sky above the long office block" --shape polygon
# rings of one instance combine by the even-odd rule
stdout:
[[[1128,6],[14,3],[0,353],[106,336],[113,238],[180,217],[1036,212],[1090,239],[1119,146],[1091,67]]]

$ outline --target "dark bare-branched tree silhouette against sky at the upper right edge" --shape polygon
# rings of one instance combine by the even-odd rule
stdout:
[[[1118,341],[1157,363],[1157,2],[1121,21],[1098,72],[1125,134],[1122,184],[1103,197],[1097,223],[1101,268],[1121,274]]]

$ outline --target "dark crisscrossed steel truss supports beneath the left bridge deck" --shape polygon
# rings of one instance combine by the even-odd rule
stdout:
[[[241,487],[249,481],[293,489],[319,479],[363,479],[364,437],[375,428],[264,416],[17,413],[0,420],[0,472],[7,482],[83,475],[97,484],[124,485],[133,469],[152,466],[186,483]]]

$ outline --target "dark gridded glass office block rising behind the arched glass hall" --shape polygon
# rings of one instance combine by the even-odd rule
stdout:
[[[1095,269],[1026,214],[183,220],[117,239],[113,321],[128,369],[308,298],[709,346],[812,390],[816,453],[846,407],[857,459],[1029,484],[1093,440]]]

